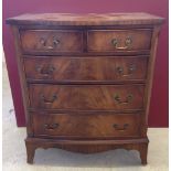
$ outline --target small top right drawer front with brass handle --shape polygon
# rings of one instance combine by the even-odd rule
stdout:
[[[150,50],[151,30],[88,31],[88,51],[129,52]]]

